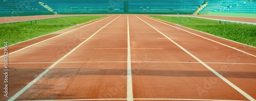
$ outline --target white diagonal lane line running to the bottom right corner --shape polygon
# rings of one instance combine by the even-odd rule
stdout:
[[[136,16],[137,17],[137,16]],[[140,19],[139,17],[137,17],[138,19]],[[146,23],[144,20],[140,19],[141,21],[143,21],[144,23]],[[210,66],[208,66],[206,63],[204,63],[202,60],[200,60],[199,58],[197,58],[195,55],[191,54],[190,52],[188,52],[185,48],[183,48],[182,46],[180,46],[179,44],[177,44],[175,41],[173,41],[172,39],[168,38],[166,35],[164,35],[164,33],[162,33],[161,31],[159,31],[158,29],[156,29],[155,27],[153,27],[152,25],[146,23],[147,25],[151,26],[152,28],[154,28],[156,31],[158,31],[159,33],[161,33],[165,38],[167,38],[169,41],[173,42],[175,45],[177,45],[178,47],[180,47],[183,51],[185,51],[187,54],[189,54],[190,56],[192,56],[193,58],[195,58],[196,60],[198,60],[201,64],[203,64],[207,69],[209,69],[212,73],[214,73],[215,75],[217,75],[219,78],[221,78],[223,81],[225,81],[228,85],[230,85],[231,87],[233,87],[234,89],[236,89],[238,92],[240,92],[242,95],[244,95],[246,98],[248,98],[249,100],[255,100],[253,97],[251,97],[249,94],[247,94],[246,92],[244,92],[242,89],[240,89],[239,87],[237,87],[236,85],[234,85],[233,83],[231,83],[230,81],[228,81],[226,78],[224,78],[222,75],[220,75],[218,72],[216,72],[214,69],[210,68]]]

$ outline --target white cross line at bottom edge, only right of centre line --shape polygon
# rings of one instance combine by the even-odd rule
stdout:
[[[207,101],[245,101],[245,100],[225,100],[225,99],[185,99],[185,98],[134,98],[136,100],[207,100]]]

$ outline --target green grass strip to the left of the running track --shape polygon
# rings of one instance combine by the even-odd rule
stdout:
[[[30,24],[30,21],[17,22],[10,24],[0,24],[0,47],[4,47],[4,42],[8,45],[33,39],[48,33],[65,29],[75,24],[85,23],[91,20],[99,19],[104,16],[78,16],[78,17],[61,17],[45,20],[37,20],[37,24]],[[75,23],[75,24],[74,24]],[[56,25],[55,25],[56,24]],[[73,24],[73,25],[58,25]]]

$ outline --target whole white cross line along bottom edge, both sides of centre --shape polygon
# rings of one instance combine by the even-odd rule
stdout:
[[[126,98],[99,98],[99,99],[49,99],[49,100],[22,100],[22,101],[68,101],[68,100],[127,100]],[[203,100],[203,101],[245,101],[226,99],[185,99],[185,98],[134,98],[134,100]]]

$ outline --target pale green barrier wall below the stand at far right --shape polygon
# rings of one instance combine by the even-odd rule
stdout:
[[[253,17],[253,18],[256,18],[255,13],[199,12],[198,15],[216,15],[216,16]]]

